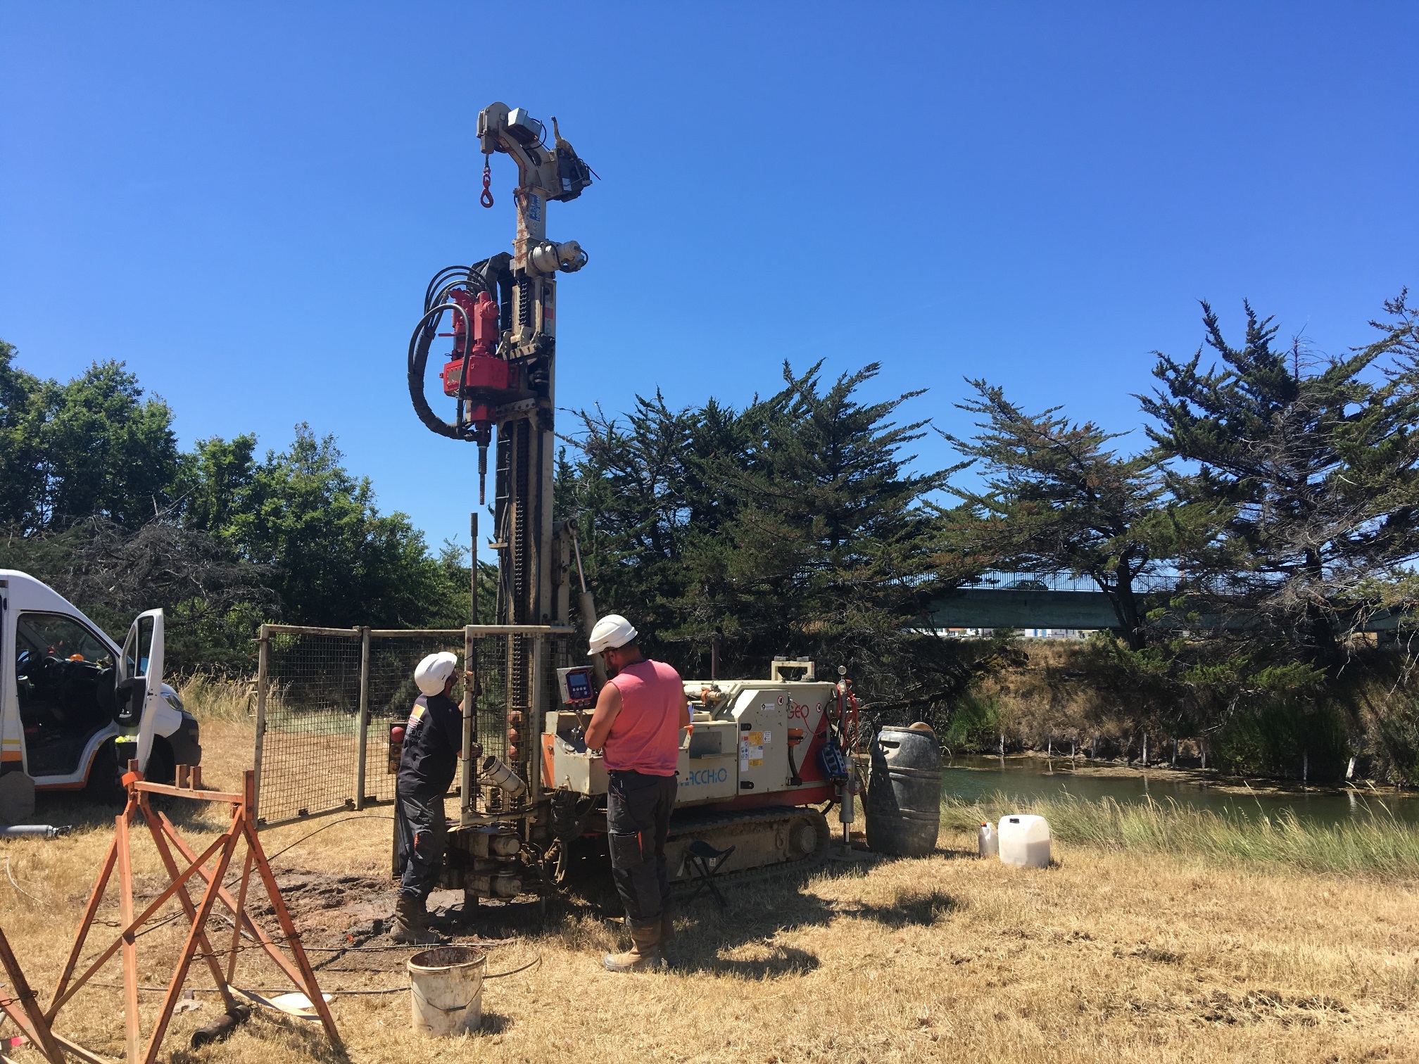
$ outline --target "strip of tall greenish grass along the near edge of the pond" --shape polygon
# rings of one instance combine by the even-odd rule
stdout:
[[[979,803],[942,804],[944,827],[955,830],[1009,813],[1036,813],[1049,820],[1050,834],[1059,841],[1103,850],[1257,861],[1385,880],[1419,877],[1419,827],[1396,819],[1378,802],[1341,824],[1317,823],[1291,810],[1253,814],[1244,804],[1225,811],[1192,809],[1172,799],[1120,803],[1061,794],[1020,802],[996,792]]]

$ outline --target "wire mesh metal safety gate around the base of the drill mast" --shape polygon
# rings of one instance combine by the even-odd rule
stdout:
[[[263,624],[258,824],[275,827],[393,802],[397,765],[389,758],[389,729],[407,721],[419,697],[414,665],[443,650],[457,654],[463,665],[453,695],[464,708],[464,752],[477,743],[482,756],[507,760],[531,785],[519,804],[535,802],[539,773],[529,739],[542,729],[535,706],[548,705],[552,697],[552,672],[568,664],[570,634],[572,628],[545,626],[387,630]],[[461,820],[514,813],[498,806],[499,794],[480,796],[473,760],[465,758],[454,782]]]

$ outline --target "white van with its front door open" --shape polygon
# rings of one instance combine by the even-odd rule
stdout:
[[[0,569],[0,824],[33,811],[35,790],[118,799],[131,759],[158,782],[197,765],[197,721],[162,678],[162,610],[119,648],[64,596]]]

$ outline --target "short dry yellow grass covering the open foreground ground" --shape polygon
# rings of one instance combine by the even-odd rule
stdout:
[[[213,722],[204,742],[209,777],[230,783],[247,729]],[[47,811],[85,816],[78,806]],[[186,821],[193,833],[213,827]],[[308,830],[270,831],[265,846],[274,853]],[[0,844],[20,885],[44,899],[0,881],[0,924],[45,993],[106,840],[94,826]],[[1412,881],[1088,847],[1057,848],[1047,871],[1012,871],[966,857],[971,843],[946,833],[929,858],[732,890],[725,915],[697,902],[681,915],[680,966],[667,975],[602,972],[617,935],[586,909],[553,908],[546,931],[535,912],[504,911],[490,933],[519,938],[492,951],[491,970],[538,953],[542,963],[487,985],[484,1033],[416,1036],[406,994],[338,997],[335,1016],[355,1061],[1419,1060]],[[277,865],[382,875],[387,846],[387,821],[355,820]],[[145,855],[139,871],[153,877],[156,861]],[[170,932],[140,939],[143,982],[165,979],[177,949]],[[245,985],[275,986],[264,960],[248,966],[254,956],[243,955]],[[400,956],[352,953],[331,968],[379,969]],[[118,982],[116,963],[99,977]],[[206,972],[192,982],[207,985]],[[400,976],[326,969],[322,982],[372,987]],[[118,1002],[116,990],[85,992],[61,1029],[118,1057]],[[166,1058],[331,1058],[318,1027],[271,1014],[189,1051],[186,1036],[213,1016],[207,1004],[179,1017]]]

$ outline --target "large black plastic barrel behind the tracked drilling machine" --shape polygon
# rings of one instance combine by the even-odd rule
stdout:
[[[871,748],[867,846],[924,857],[941,831],[941,749],[927,725],[883,728]]]

